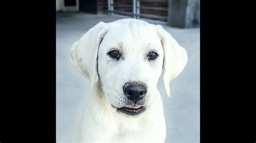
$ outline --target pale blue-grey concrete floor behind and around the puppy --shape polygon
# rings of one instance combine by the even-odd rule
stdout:
[[[56,13],[56,135],[58,142],[74,141],[72,137],[89,91],[89,80],[76,71],[69,59],[69,48],[98,22],[107,23],[122,18],[124,17]],[[163,24],[152,21],[150,23]],[[183,30],[163,26],[186,49],[188,54],[185,69],[170,82],[171,98],[165,96],[161,78],[158,84],[160,92],[164,95],[164,113],[167,124],[165,142],[200,142],[200,29]]]

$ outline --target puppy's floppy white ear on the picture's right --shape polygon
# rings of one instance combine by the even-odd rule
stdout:
[[[164,48],[163,80],[167,96],[171,96],[169,82],[177,77],[187,63],[187,53],[183,47],[160,25],[157,33]]]

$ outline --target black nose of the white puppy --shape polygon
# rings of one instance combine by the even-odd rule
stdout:
[[[124,85],[124,94],[128,99],[136,104],[140,101],[147,93],[147,87],[144,83],[128,82]]]

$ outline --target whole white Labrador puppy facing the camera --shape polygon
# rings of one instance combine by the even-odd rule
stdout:
[[[100,22],[70,49],[73,64],[91,83],[80,125],[85,142],[164,142],[166,125],[157,89],[181,73],[187,54],[160,25],[143,20]]]

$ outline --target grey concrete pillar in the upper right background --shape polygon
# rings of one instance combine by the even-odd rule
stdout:
[[[169,0],[168,24],[173,27],[200,27],[200,0]]]

